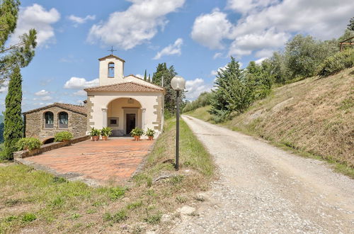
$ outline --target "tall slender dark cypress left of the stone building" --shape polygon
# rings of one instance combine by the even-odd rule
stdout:
[[[20,67],[13,69],[8,83],[8,94],[6,95],[5,106],[5,128],[4,128],[4,158],[13,160],[13,152],[16,151],[16,143],[23,135],[23,121],[21,117],[22,101],[22,77]]]

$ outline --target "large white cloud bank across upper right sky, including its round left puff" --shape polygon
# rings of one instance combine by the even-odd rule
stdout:
[[[229,55],[255,52],[256,57],[268,57],[298,33],[321,40],[338,38],[353,16],[354,4],[353,0],[341,4],[329,0],[228,0],[227,9],[241,13],[241,18],[230,23],[218,9],[202,14],[195,19],[192,38],[210,49],[223,48],[223,42],[232,40]]]

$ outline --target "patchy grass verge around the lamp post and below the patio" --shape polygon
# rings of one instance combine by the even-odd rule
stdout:
[[[173,168],[176,121],[166,121],[142,172],[121,186],[89,187],[24,165],[0,167],[0,233],[140,233],[195,200],[213,179],[209,153],[181,121],[181,167]],[[167,175],[166,179],[156,178]]]

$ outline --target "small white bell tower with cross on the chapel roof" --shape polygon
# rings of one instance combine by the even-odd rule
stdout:
[[[113,48],[109,51],[111,51],[110,55],[98,59],[100,61],[100,86],[123,82],[125,61],[113,55],[115,51]]]

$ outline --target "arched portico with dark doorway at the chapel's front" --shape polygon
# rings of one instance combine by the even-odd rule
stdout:
[[[133,128],[144,129],[145,108],[136,99],[120,97],[102,108],[103,127],[113,129],[113,136],[129,135]]]

